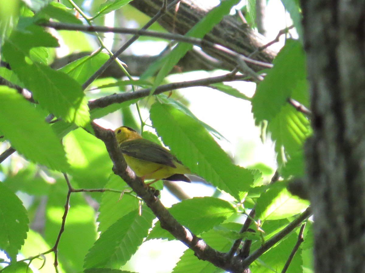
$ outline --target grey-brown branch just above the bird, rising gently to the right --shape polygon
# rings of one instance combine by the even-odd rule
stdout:
[[[161,86],[158,86],[153,93],[153,95],[161,94],[162,92],[178,89],[178,88],[187,88],[187,87],[194,87],[194,86],[209,86],[213,83],[218,82],[230,82],[233,80],[243,79],[247,78],[245,75],[234,75],[232,73],[228,73],[226,75],[222,76],[216,76],[216,77],[210,77],[210,78],[204,78],[199,80],[190,80],[186,82],[177,82],[177,83],[169,83],[164,84]],[[109,96],[105,96],[100,99],[96,99],[93,101],[89,101],[89,109],[95,109],[95,108],[103,108],[107,107],[113,103],[122,103],[126,102],[128,100],[132,99],[141,99],[146,96],[150,95],[151,88],[146,88],[142,90],[138,90],[136,92],[128,92],[128,93],[122,93],[122,94],[112,94]]]

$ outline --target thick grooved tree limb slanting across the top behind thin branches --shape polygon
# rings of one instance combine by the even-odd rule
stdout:
[[[153,16],[159,11],[162,2],[162,0],[134,0],[130,4],[146,15]],[[171,0],[168,0],[168,3],[170,2]],[[177,12],[170,9],[158,20],[158,23],[169,32],[185,34],[210,11],[212,6],[208,3],[209,1],[198,0],[180,1]],[[262,35],[255,33],[249,26],[232,16],[224,17],[211,32],[205,35],[204,40],[221,44],[245,56],[249,56],[257,48],[265,44]],[[204,46],[203,50],[208,55],[221,60],[224,66],[230,67],[229,70],[234,69],[236,59],[232,58],[232,56],[228,56],[211,46]],[[266,48],[259,52],[255,56],[255,59],[261,62],[271,63],[275,55],[275,52]],[[262,70],[262,67],[254,64],[249,64],[249,66],[254,71]]]

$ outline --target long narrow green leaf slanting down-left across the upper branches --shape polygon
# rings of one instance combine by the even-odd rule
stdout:
[[[227,15],[231,8],[236,5],[239,0],[225,0],[221,1],[220,4],[208,12],[207,15],[204,16],[197,24],[194,25],[185,36],[188,37],[196,37],[202,39],[205,34],[210,32],[212,28],[222,20],[222,18]],[[157,62],[162,64],[161,70],[158,72],[155,82],[153,83],[153,87],[151,89],[151,93],[156,90],[157,86],[160,85],[162,80],[166,77],[166,75],[172,70],[172,68],[178,63],[178,61],[183,58],[183,56],[192,48],[192,44],[188,43],[179,43],[169,55],[163,57],[163,61],[158,60]],[[147,70],[141,76],[142,79],[146,79],[148,76],[154,75],[157,69],[160,66],[155,66],[155,64],[151,64],[151,67],[155,68],[154,71]]]

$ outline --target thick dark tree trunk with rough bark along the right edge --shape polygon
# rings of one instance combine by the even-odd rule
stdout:
[[[302,1],[315,271],[365,272],[364,1]]]

